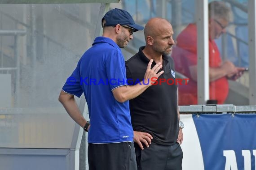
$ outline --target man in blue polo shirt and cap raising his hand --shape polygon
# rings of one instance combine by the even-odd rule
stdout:
[[[124,48],[134,31],[143,30],[122,9],[112,9],[102,18],[103,35],[94,40],[67,79],[59,101],[68,114],[88,132],[89,170],[136,170],[129,99],[137,97],[154,82],[161,64],[151,68],[150,60],[143,83],[129,86],[126,81]],[[90,122],[80,114],[74,95],[84,93]]]

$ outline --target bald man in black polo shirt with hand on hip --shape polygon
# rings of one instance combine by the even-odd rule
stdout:
[[[137,167],[138,170],[182,170],[183,123],[179,121],[177,109],[177,85],[163,82],[175,81],[173,60],[168,56],[174,44],[172,25],[163,18],[152,18],[144,34],[146,46],[125,62],[127,79],[142,81],[150,59],[154,60],[151,67],[161,63],[164,72],[157,85],[130,100]]]

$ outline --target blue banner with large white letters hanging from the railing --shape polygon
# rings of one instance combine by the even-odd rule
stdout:
[[[255,170],[255,114],[192,117],[205,170]]]

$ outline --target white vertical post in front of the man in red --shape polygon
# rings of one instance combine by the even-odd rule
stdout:
[[[196,0],[198,104],[209,99],[208,0]]]

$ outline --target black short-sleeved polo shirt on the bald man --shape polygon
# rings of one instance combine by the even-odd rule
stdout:
[[[150,61],[140,47],[137,54],[125,62],[127,79],[132,82],[142,81]],[[153,61],[151,67],[156,63]],[[129,101],[134,131],[148,132],[153,142],[162,145],[176,143],[179,126],[177,115],[177,85],[174,75],[174,64],[171,57],[163,55],[163,74],[157,79],[158,85],[151,85],[141,95]],[[174,76],[173,76],[174,75]],[[161,83],[160,79],[168,83]],[[172,85],[171,85],[172,84]]]

